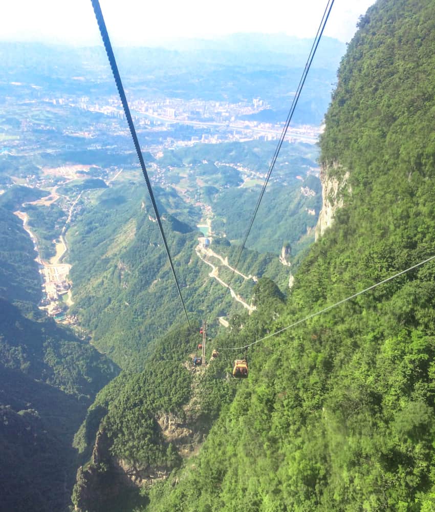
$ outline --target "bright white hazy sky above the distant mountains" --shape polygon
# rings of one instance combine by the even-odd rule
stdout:
[[[0,39],[100,44],[90,0],[2,2]],[[325,35],[348,42],[374,0],[335,0]],[[282,32],[313,37],[326,0],[100,0],[115,45],[157,44],[171,37]]]

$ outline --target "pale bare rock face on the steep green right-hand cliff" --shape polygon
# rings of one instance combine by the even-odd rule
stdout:
[[[334,215],[338,208],[343,206],[344,191],[351,192],[347,180],[350,173],[346,171],[340,179],[331,176],[334,170],[338,170],[340,165],[335,163],[329,167],[320,167],[320,181],[322,183],[322,209],[319,213],[317,221],[315,239],[322,236],[325,229],[330,227],[334,222]]]

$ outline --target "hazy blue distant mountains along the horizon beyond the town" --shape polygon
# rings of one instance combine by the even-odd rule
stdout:
[[[169,49],[119,47],[115,55],[124,87],[136,90],[143,99],[153,99],[157,94],[236,103],[258,97],[279,112],[290,107],[312,42],[282,34],[234,34],[216,41],[177,40]],[[344,51],[340,41],[322,38],[295,112],[296,124],[322,122]],[[86,96],[89,85],[80,80],[91,81],[101,93],[116,93],[102,47],[0,42],[0,58],[10,70],[7,80],[0,79],[0,91],[5,95],[11,82],[29,86],[30,81],[32,86],[42,87],[44,94],[82,91],[79,94]],[[268,122],[277,117],[268,118]]]

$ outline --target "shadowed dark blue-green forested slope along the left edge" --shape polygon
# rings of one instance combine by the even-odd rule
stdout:
[[[10,211],[22,192],[34,194],[17,187],[0,207],[0,510],[66,510],[74,433],[118,369],[36,307],[36,253]]]

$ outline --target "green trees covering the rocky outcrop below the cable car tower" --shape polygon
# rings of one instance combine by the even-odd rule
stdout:
[[[144,371],[121,373],[97,395],[74,442],[86,460],[96,437],[100,439],[92,461],[79,470],[73,493],[76,506],[133,508],[115,501],[118,492],[113,496],[113,488],[120,487],[120,461],[140,478],[157,471],[167,474],[186,456],[186,445],[200,442],[221,408],[231,402],[236,386],[225,379],[226,362],[212,361],[204,373],[195,372],[190,360],[181,364],[190,359],[198,338],[187,327],[172,329],[154,345]],[[131,491],[127,499],[134,499],[136,506],[147,501]]]

